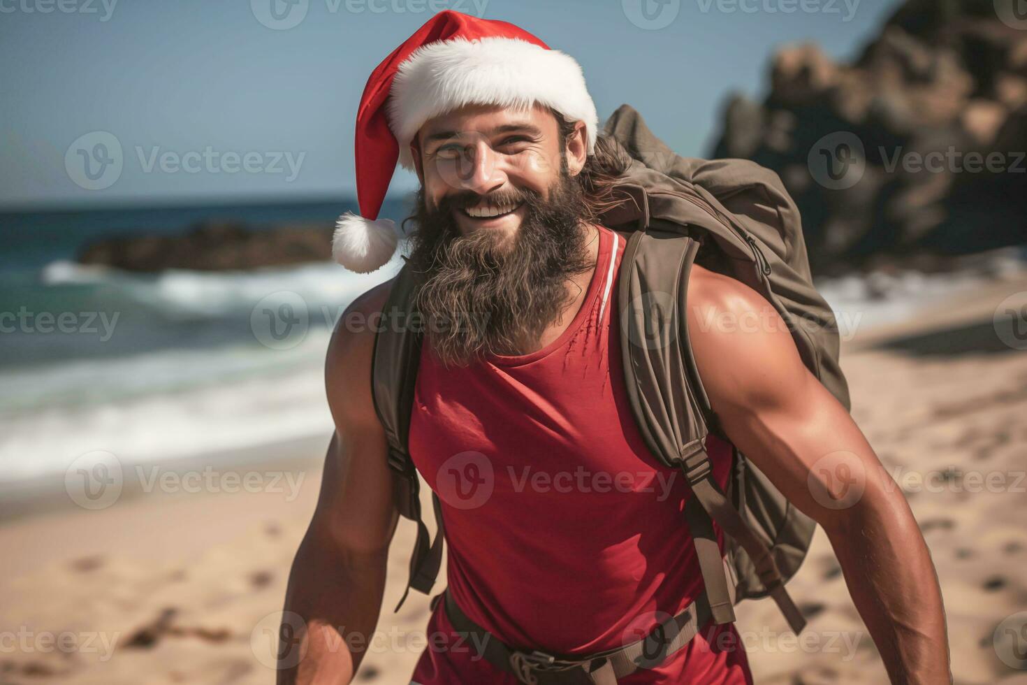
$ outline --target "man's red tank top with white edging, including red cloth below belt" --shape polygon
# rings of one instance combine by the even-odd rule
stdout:
[[[683,513],[690,490],[649,452],[624,390],[625,241],[603,227],[599,240],[580,309],[542,349],[447,370],[425,344],[410,426],[411,457],[442,500],[456,603],[507,645],[565,654],[636,640],[702,587]],[[711,436],[708,447],[723,486],[730,446]],[[450,630],[440,604],[429,633]],[[621,682],[748,682],[740,648],[692,643]],[[516,682],[428,644],[417,683]]]

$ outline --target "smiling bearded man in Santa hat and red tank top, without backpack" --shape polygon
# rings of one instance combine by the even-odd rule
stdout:
[[[369,80],[356,158],[366,218],[344,218],[337,236],[350,268],[376,268],[395,245],[373,220],[397,158],[421,184],[409,261],[418,309],[445,325],[425,331],[410,450],[443,502],[456,606],[506,645],[577,656],[688,606],[702,595],[681,515],[690,493],[647,452],[627,409],[610,297],[624,240],[596,223],[622,166],[597,135],[580,69],[517,27],[443,12]],[[343,321],[381,312],[391,286],[357,298]],[[892,682],[950,682],[926,545],[848,413],[755,291],[695,266],[687,297],[724,432],[825,528]],[[709,325],[723,316],[765,325]],[[279,683],[349,682],[364,651],[345,646],[370,639],[381,609],[396,506],[370,386],[374,341],[373,328],[340,326],[328,352],[336,434],[286,602],[305,624],[303,657],[283,656]],[[723,486],[729,449],[708,447]],[[839,451],[867,474],[842,509],[809,487],[836,491],[812,466]],[[489,487],[468,502],[452,492],[463,477]],[[611,480],[620,487],[600,487]],[[434,604],[414,682],[519,682],[454,640],[452,618]],[[751,683],[737,637],[730,623],[702,626],[618,682]]]

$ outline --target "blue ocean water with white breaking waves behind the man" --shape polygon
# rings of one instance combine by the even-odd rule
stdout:
[[[245,272],[130,274],[73,261],[106,233],[175,233],[204,218],[331,220],[344,203],[5,215],[0,259],[0,486],[60,475],[105,451],[122,464],[324,435],[330,332],[373,274],[331,263]],[[400,203],[385,216],[402,219]],[[865,274],[817,287],[843,337],[901,320],[1027,253],[946,274]]]

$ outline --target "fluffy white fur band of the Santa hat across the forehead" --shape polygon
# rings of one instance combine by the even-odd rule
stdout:
[[[470,104],[551,107],[583,121],[595,149],[599,116],[573,58],[517,38],[455,38],[419,47],[398,67],[386,111],[400,163],[413,168],[410,142],[425,121]]]

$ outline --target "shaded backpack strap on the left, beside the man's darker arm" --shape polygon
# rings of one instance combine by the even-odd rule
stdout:
[[[407,600],[410,588],[428,594],[439,575],[443,553],[443,519],[439,497],[432,493],[436,531],[429,544],[421,513],[420,480],[410,459],[410,416],[421,358],[421,321],[413,307],[413,274],[401,269],[385,302],[371,360],[371,391],[375,412],[388,441],[388,466],[396,508],[417,524],[417,538],[410,558],[410,579],[394,611]]]

